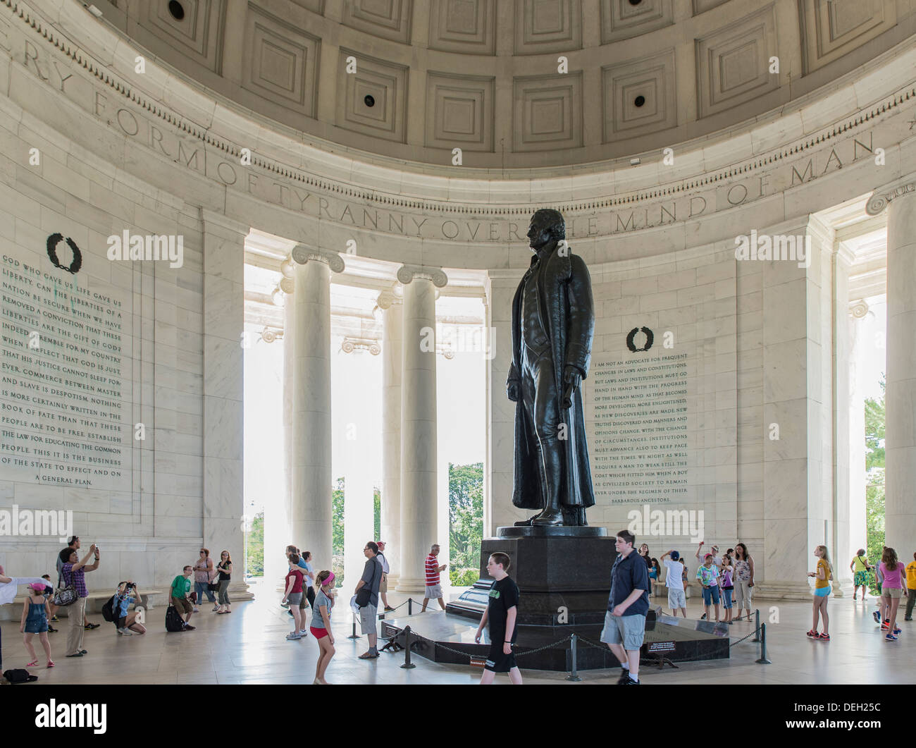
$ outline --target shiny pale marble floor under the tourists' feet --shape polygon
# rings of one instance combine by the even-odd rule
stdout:
[[[263,583],[253,586],[255,600],[240,602],[231,615],[217,616],[205,605],[193,616],[198,628],[188,633],[166,633],[165,608],[147,614],[149,633],[119,637],[101,615],[91,619],[103,623],[86,632],[83,647],[89,654],[82,659],[66,659],[63,648],[66,622],[60,632],[50,634],[51,652],[58,665],[46,670],[33,668],[42,684],[224,684],[311,683],[318,648],[311,638],[298,642],[285,640],[291,619],[279,607],[280,593]],[[455,594],[455,597],[457,595]],[[407,600],[406,595],[391,594],[393,605]],[[653,599],[661,603],[661,598]],[[771,665],[757,665],[758,644],[750,637],[734,646],[729,660],[682,664],[677,670],[646,667],[645,684],[904,684],[916,681],[916,622],[900,622],[903,633],[895,643],[885,642],[872,620],[876,610],[873,599],[865,603],[833,599],[829,603],[832,641],[815,642],[805,637],[811,627],[811,604],[807,602],[761,601],[761,620],[768,621],[768,656]],[[702,613],[696,600],[688,600],[688,615]],[[764,607],[765,606],[765,607]],[[18,606],[16,606],[18,607]],[[414,610],[417,611],[419,606]],[[398,616],[404,609],[398,611]],[[415,629],[422,632],[423,619],[442,612],[415,613]],[[775,617],[778,616],[778,622]],[[773,617],[774,622],[769,623]],[[902,618],[902,613],[901,613]],[[0,624],[3,631],[4,668],[22,667],[26,649],[16,622]],[[733,625],[733,642],[751,631],[751,624]],[[463,665],[439,665],[414,657],[416,668],[401,669],[403,654],[382,654],[375,661],[361,661],[365,637],[351,640],[350,611],[343,605],[333,616],[337,654],[327,672],[333,683],[351,684],[474,684],[480,670]],[[38,645],[38,641],[36,640]],[[38,647],[39,658],[43,654]],[[41,660],[43,662],[43,659]],[[619,670],[580,673],[583,684],[614,683]],[[530,684],[567,684],[566,674],[522,670]],[[498,676],[497,682],[507,682]]]

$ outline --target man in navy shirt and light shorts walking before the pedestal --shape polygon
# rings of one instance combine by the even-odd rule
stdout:
[[[611,567],[611,593],[601,630],[601,641],[620,662],[622,671],[617,683],[622,686],[639,682],[639,647],[649,612],[649,570],[642,557],[633,553],[634,539],[628,530],[617,533],[617,558]]]

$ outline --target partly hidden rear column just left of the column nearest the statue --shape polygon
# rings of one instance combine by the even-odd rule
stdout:
[[[398,292],[401,292],[398,285]],[[391,589],[400,578],[400,439],[401,367],[404,301],[398,293],[384,291],[376,302],[382,310],[382,537],[391,572]]]

